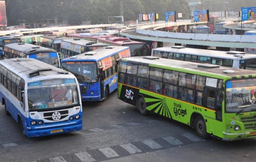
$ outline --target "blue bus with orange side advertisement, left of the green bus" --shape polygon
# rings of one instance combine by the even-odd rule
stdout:
[[[72,72],[80,86],[82,101],[102,101],[117,89],[117,65],[130,57],[125,46],[108,46],[61,60],[61,68]]]

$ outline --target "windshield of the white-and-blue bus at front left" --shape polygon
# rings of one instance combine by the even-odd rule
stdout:
[[[79,104],[78,89],[74,79],[53,79],[28,83],[29,111],[74,104]]]

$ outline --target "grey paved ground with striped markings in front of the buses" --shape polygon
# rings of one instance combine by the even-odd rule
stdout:
[[[254,161],[256,139],[198,138],[192,128],[157,115],[142,116],[117,99],[83,103],[83,129],[26,138],[0,106],[0,162]]]

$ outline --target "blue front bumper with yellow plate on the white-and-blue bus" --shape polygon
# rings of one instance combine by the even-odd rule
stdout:
[[[44,125],[47,126],[47,125]],[[50,126],[48,128],[36,128],[33,130],[28,128],[27,137],[40,137],[40,136],[49,136],[54,134],[62,134],[66,132],[74,132],[82,129],[82,119],[74,122],[70,122],[68,125],[61,126],[61,124],[56,124],[56,126]]]

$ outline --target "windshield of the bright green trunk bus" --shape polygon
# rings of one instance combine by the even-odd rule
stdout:
[[[256,79],[229,80],[226,82],[226,112],[256,110]]]

